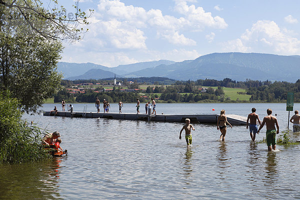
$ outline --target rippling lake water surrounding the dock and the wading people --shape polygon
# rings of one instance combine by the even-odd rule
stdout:
[[[74,104],[82,111],[85,104]],[[56,104],[61,110],[60,104]],[[45,104],[51,110],[54,104]],[[262,120],[266,109],[286,129],[285,104],[162,104],[157,113],[247,116]],[[144,112],[140,107],[141,113]],[[215,111],[212,110],[215,109]],[[300,104],[294,104],[300,109]],[[101,110],[101,109],[100,109]],[[93,103],[87,111],[96,111]],[[111,112],[118,112],[116,103]],[[135,113],[125,103],[123,112]],[[290,112],[292,115],[293,112]],[[0,199],[295,199],[300,198],[300,146],[268,152],[251,142],[245,126],[227,129],[193,123],[192,146],[178,139],[183,123],[25,115],[41,128],[58,130],[68,155],[46,162],[0,165]],[[291,128],[291,124],[289,124]],[[183,133],[184,134],[184,133]],[[265,136],[265,127],[256,135]],[[291,135],[300,140],[299,133]]]

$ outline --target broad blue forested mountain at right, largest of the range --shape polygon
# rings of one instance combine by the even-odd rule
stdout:
[[[294,82],[300,77],[299,56],[283,56],[265,53],[212,53],[194,60],[160,65],[136,71],[136,76],[164,76],[177,80],[218,79],[279,80]]]

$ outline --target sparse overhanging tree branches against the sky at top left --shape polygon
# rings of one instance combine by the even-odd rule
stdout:
[[[58,4],[58,0],[49,0],[46,6],[43,0],[0,0],[0,7],[10,12],[5,21],[13,26],[26,25],[29,32],[38,33],[48,39],[78,40],[81,33],[87,31],[79,24],[88,24],[89,15],[78,7],[75,1],[74,12],[66,13],[66,9]],[[50,5],[50,6],[49,6]]]

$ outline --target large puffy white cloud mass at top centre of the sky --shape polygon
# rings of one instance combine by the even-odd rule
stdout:
[[[103,47],[117,49],[146,49],[145,31],[156,31],[156,37],[171,44],[196,45],[182,31],[202,31],[205,27],[222,29],[227,23],[220,16],[212,16],[202,7],[187,5],[194,0],[175,0],[174,10],[180,17],[163,15],[159,9],[145,10],[142,7],[125,5],[120,0],[99,0],[88,33],[89,39],[102,40]]]

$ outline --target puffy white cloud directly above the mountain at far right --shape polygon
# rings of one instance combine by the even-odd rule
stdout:
[[[224,43],[227,51],[260,52],[262,47],[269,53],[296,54],[300,52],[300,40],[274,21],[258,20],[240,38]]]

